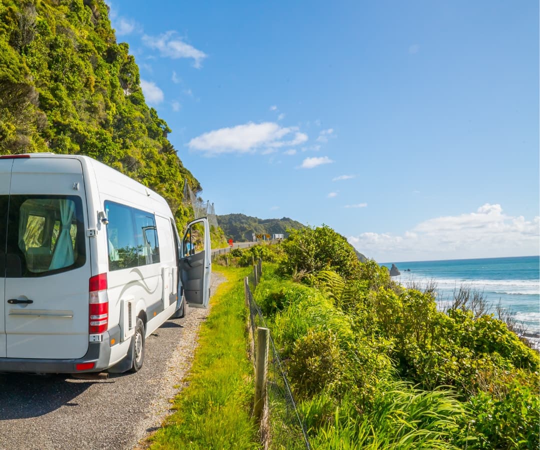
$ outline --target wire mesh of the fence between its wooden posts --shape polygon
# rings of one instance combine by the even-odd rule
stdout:
[[[262,261],[253,266],[253,272],[244,280],[246,293],[246,306],[249,308],[249,341],[252,360],[256,360],[257,328],[264,327],[266,320],[261,313],[257,302],[253,298],[253,291],[259,283],[262,272]],[[269,339],[267,375],[267,404],[261,424],[261,438],[265,449],[311,450],[306,426],[296,408],[296,404],[289,386],[289,381],[283,369],[279,353],[276,351],[272,334]]]

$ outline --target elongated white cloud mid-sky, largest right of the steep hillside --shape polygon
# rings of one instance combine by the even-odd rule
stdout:
[[[191,150],[203,151],[206,155],[221,153],[253,153],[257,150],[278,149],[306,142],[305,133],[298,127],[282,127],[274,122],[255,124],[248,122],[219,130],[209,131],[187,143]]]

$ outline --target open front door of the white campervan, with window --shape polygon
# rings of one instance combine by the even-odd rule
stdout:
[[[210,226],[206,217],[187,225],[181,243],[180,279],[187,303],[192,307],[208,305],[212,274]]]

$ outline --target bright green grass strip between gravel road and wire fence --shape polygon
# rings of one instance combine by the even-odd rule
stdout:
[[[226,277],[201,325],[189,386],[174,400],[176,413],[150,438],[151,449],[259,448],[251,418],[253,366],[247,359],[243,277],[214,265]]]

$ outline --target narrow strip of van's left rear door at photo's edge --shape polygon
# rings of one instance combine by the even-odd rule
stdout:
[[[0,358],[5,358],[5,323],[4,323],[4,305],[5,305],[5,230],[8,223],[8,199],[9,184],[11,182],[12,159],[0,159]]]

